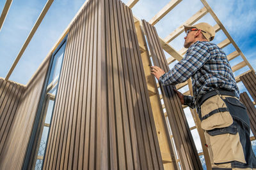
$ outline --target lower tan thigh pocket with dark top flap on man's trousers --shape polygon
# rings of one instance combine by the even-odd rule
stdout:
[[[246,164],[243,147],[234,125],[205,132],[208,150],[215,164],[238,161]]]

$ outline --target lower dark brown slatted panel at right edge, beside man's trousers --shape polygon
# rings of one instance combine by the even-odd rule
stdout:
[[[240,94],[240,101],[246,106],[250,118],[250,127],[256,138],[256,108],[246,92]]]

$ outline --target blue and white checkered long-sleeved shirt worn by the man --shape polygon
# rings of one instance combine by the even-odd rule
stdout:
[[[177,85],[191,77],[194,96],[184,96],[184,104],[195,108],[195,102],[214,89],[236,92],[239,89],[225,52],[214,43],[196,41],[180,62],[159,78],[162,85]]]

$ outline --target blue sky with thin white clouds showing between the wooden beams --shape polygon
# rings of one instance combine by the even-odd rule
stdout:
[[[136,17],[149,21],[169,1],[170,0],[140,0],[134,8],[132,8],[132,11]],[[46,2],[47,0],[13,1],[0,31],[0,77],[5,78]],[[124,0],[124,3],[127,2],[128,0]],[[40,63],[52,49],[52,46],[58,41],[62,32],[83,3],[84,0],[55,0],[52,3],[40,27],[38,27],[35,36],[13,71],[10,80],[17,81],[24,85],[28,83],[37,67],[40,66]],[[208,3],[234,41],[236,41],[250,64],[256,69],[256,1],[208,0]],[[0,11],[3,10],[4,4],[5,1],[0,1]],[[165,38],[170,32],[174,31],[201,8],[203,8],[203,4],[200,0],[183,0],[155,25],[159,36]],[[208,22],[211,25],[216,24],[209,14],[205,15],[205,17],[198,22]],[[180,34],[170,45],[179,51],[184,43],[184,36],[184,33]],[[219,31],[216,34],[214,43],[220,43],[224,39],[225,36],[223,32]],[[228,45],[223,50],[228,54],[235,49],[232,45]],[[237,57],[232,60],[230,64],[234,66],[241,61],[241,57]],[[247,70],[248,67],[244,67],[237,71],[235,76]],[[239,89],[241,92],[245,90],[243,83],[239,83]],[[187,89],[185,87],[185,89],[182,90],[186,91]],[[185,113],[188,117],[189,126],[195,125],[193,118],[191,118],[190,111],[185,111]],[[192,131],[192,134],[194,137],[197,136],[196,129]],[[198,137],[195,137],[196,146],[200,149],[200,141],[198,140]]]

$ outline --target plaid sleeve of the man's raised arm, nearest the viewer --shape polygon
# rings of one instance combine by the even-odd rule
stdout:
[[[177,85],[188,80],[210,59],[209,48],[198,41],[189,47],[185,57],[159,78],[162,85]]]

